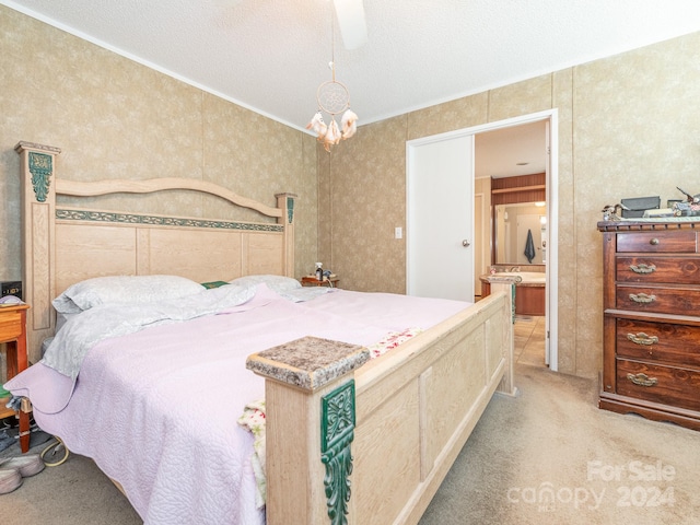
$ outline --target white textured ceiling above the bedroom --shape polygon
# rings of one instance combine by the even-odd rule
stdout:
[[[330,0],[0,0],[298,129],[330,80]],[[336,79],[359,125],[700,31],[697,0],[364,0]]]

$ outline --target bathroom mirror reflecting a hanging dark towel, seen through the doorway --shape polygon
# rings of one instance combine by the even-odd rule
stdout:
[[[528,240],[529,236],[532,236],[532,243]],[[545,202],[495,206],[491,246],[493,264],[545,265],[547,262],[547,208]],[[532,256],[532,259],[528,256]]]

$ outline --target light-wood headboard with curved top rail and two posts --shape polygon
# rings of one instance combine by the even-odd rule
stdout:
[[[60,149],[20,142],[24,300],[30,361],[54,335],[51,301],[92,277],[176,275],[197,282],[273,273],[294,277],[294,198],[278,194],[277,208],[213,183],[187,178],[78,183],[56,177]],[[186,189],[256,210],[276,222],[165,217],[57,206],[56,196],[95,197]]]

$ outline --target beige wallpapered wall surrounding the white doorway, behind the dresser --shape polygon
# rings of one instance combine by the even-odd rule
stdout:
[[[320,155],[320,253],[361,291],[404,292],[406,140],[558,109],[559,370],[602,365],[596,222],[623,197],[700,192],[700,33],[360,127]],[[326,155],[327,159],[324,159]],[[687,187],[685,187],[685,186]]]

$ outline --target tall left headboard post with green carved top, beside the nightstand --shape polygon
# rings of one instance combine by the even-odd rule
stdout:
[[[42,341],[54,335],[51,308],[55,283],[56,184],[52,180],[58,148],[20,142],[22,192],[22,282],[27,311],[30,362],[40,358]]]

